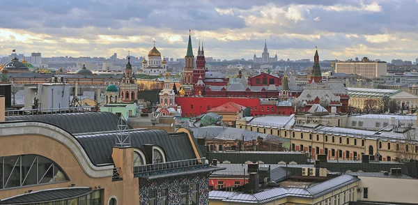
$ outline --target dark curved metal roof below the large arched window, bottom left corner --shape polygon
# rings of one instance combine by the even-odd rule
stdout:
[[[35,204],[52,202],[60,199],[75,198],[92,192],[91,188],[61,188],[40,190],[8,199],[1,199],[0,204]]]

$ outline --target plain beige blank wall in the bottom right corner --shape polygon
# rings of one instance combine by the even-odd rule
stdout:
[[[359,176],[359,188],[369,188],[369,196],[364,199],[363,192],[357,196],[359,200],[373,202],[418,202],[417,179],[393,179]]]

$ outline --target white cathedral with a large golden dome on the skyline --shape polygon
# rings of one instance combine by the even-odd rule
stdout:
[[[161,59],[161,53],[154,47],[148,52],[148,61],[142,60],[142,72],[148,75],[164,75],[167,72],[167,61]]]

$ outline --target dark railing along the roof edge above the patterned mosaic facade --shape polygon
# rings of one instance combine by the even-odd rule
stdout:
[[[162,162],[152,165],[141,165],[134,167],[134,174],[144,174],[148,172],[161,172],[169,169],[178,169],[185,167],[199,167],[207,165],[206,158],[196,158],[190,160],[178,160],[172,162]]]

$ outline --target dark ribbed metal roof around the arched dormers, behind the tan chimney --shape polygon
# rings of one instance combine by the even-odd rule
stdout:
[[[197,158],[186,133],[167,133],[164,130],[128,130],[132,147],[144,151],[145,144],[160,146],[166,161],[188,160]],[[112,148],[115,146],[117,132],[76,135],[88,158],[95,165],[113,163]],[[197,143],[194,142],[197,146]]]

